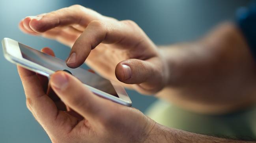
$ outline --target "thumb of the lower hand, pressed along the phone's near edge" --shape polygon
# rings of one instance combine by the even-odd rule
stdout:
[[[52,74],[50,85],[68,107],[88,120],[98,118],[110,107],[108,100],[96,96],[81,81],[66,72],[58,71]]]

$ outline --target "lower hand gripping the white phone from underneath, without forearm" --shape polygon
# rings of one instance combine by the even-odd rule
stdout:
[[[42,51],[54,55],[49,48]],[[47,89],[46,77],[22,67],[18,71],[27,107],[54,143],[143,142],[155,125],[139,110],[96,96],[67,72],[50,76],[56,96]]]

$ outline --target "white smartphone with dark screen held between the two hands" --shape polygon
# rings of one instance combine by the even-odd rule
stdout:
[[[107,80],[98,74],[80,67],[71,69],[66,65],[64,60],[40,52],[10,38],[4,38],[2,40],[2,46],[4,57],[12,63],[47,76],[48,78],[56,71],[67,71],[82,81],[94,94],[121,105],[132,105],[125,89],[116,81]]]

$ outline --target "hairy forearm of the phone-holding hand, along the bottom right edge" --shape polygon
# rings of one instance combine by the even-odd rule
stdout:
[[[216,138],[178,129],[170,129],[157,124],[144,143],[256,143],[256,141]]]

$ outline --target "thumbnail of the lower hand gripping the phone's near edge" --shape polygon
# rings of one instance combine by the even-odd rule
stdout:
[[[67,77],[64,73],[54,74],[51,78],[51,85],[58,90],[63,90],[67,87]]]

